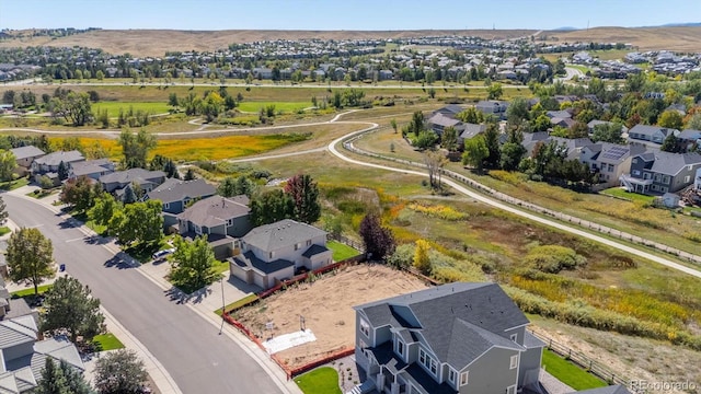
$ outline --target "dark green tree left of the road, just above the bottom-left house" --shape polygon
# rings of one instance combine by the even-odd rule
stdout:
[[[105,316],[100,312],[100,300],[90,288],[76,278],[59,277],[46,292],[41,327],[44,332],[68,331],[71,340],[78,336],[92,339],[105,331]]]

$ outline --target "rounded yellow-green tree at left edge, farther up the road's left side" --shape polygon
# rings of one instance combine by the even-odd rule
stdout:
[[[38,294],[38,286],[54,277],[54,246],[37,229],[22,228],[10,235],[5,252],[10,279],[14,282],[25,281],[34,286],[34,294]]]

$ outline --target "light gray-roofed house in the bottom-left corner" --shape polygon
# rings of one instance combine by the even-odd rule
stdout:
[[[0,392],[31,393],[42,379],[46,359],[64,360],[72,368],[85,370],[76,346],[66,337],[37,340],[33,316],[0,321]]]

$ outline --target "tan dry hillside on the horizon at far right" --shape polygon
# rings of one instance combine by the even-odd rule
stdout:
[[[595,27],[571,32],[544,32],[548,42],[624,43],[640,50],[701,51],[701,27]],[[558,40],[555,42],[554,38]]]

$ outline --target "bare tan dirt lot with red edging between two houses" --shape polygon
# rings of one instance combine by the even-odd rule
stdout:
[[[317,336],[313,343],[277,355],[295,368],[355,343],[353,305],[425,289],[421,280],[381,265],[360,264],[327,274],[313,283],[300,283],[272,296],[261,303],[238,311],[234,317],[254,334],[269,334],[265,323],[273,322],[273,335],[299,331],[299,316]]]

